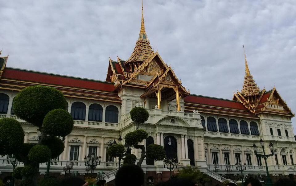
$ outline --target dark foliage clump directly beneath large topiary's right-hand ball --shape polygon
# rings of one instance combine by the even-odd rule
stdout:
[[[51,151],[51,158],[56,158],[64,151],[65,145],[60,138],[47,137],[43,142]]]

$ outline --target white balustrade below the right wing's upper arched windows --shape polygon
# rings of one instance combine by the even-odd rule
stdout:
[[[245,134],[231,134],[224,132],[211,132],[204,131],[205,137],[214,137],[214,138],[236,138],[236,139],[250,139],[250,140],[259,140],[259,136],[245,135]]]

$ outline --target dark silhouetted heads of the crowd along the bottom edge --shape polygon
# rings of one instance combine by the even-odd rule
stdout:
[[[137,165],[124,165],[116,173],[115,186],[143,186],[145,174],[141,167]],[[63,186],[88,186],[84,180],[78,177],[66,178],[61,182]],[[107,186],[106,180],[98,180],[97,186]],[[289,178],[279,179],[274,186],[296,186],[295,182]],[[198,186],[191,180],[171,178],[166,182],[160,182],[155,186]],[[208,186],[211,186],[208,184]],[[216,185],[215,185],[216,186]],[[235,183],[227,183],[225,186],[237,186]],[[263,186],[261,182],[254,178],[245,180],[241,186]]]

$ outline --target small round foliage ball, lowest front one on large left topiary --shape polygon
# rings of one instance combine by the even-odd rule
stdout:
[[[50,149],[45,145],[35,145],[29,151],[28,158],[35,163],[47,162],[51,157]]]

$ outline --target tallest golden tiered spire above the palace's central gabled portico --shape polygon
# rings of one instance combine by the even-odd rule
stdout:
[[[135,67],[141,65],[151,54],[153,53],[150,42],[147,38],[144,24],[144,14],[143,14],[143,0],[142,0],[142,19],[141,28],[139,33],[139,38],[136,42],[136,46],[130,58],[125,62],[125,64],[130,64],[130,67]],[[133,70],[131,70],[133,71]]]

